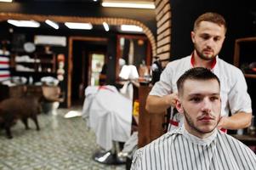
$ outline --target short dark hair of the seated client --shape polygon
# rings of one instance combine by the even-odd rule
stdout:
[[[220,87],[219,78],[209,69],[204,67],[195,67],[188,71],[185,71],[181,77],[179,77],[177,81],[178,93],[183,94],[184,83],[186,80],[199,80],[199,81],[206,81],[206,80],[217,80]]]

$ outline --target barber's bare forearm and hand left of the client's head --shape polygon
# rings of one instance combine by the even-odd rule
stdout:
[[[146,99],[145,109],[151,113],[162,113],[170,106],[175,106],[178,95],[168,94],[162,97],[156,95],[149,95]]]

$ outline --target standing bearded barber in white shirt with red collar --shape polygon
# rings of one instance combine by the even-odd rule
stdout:
[[[225,40],[226,22],[216,13],[200,15],[191,31],[194,51],[191,55],[174,60],[162,71],[160,81],[156,82],[146,99],[145,108],[151,113],[162,113],[169,107],[174,108],[178,99],[176,82],[187,70],[205,67],[213,71],[221,82],[221,119],[220,129],[241,129],[248,127],[252,119],[252,102],[247,94],[247,83],[242,71],[219,59],[219,51]],[[231,113],[231,116],[229,116]],[[171,112],[168,130],[180,127],[183,116]]]

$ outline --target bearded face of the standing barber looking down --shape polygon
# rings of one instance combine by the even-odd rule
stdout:
[[[213,22],[202,21],[191,32],[192,42],[194,43],[196,56],[205,60],[212,60],[222,48],[225,40],[225,27],[214,24]]]

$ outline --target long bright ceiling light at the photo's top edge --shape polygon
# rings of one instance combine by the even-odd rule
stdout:
[[[116,7],[116,8],[156,8],[154,2],[118,2],[105,0],[101,3],[103,7]]]

